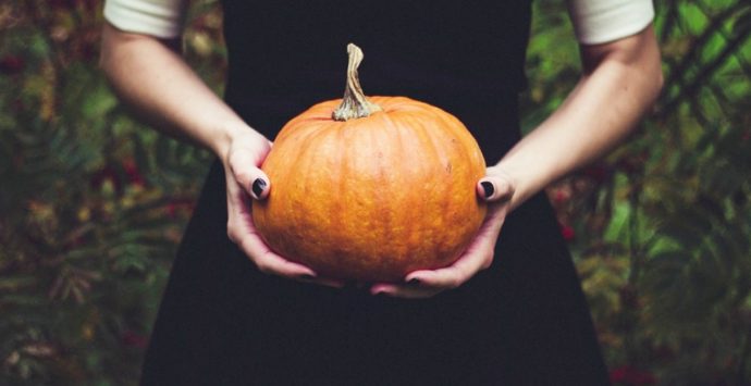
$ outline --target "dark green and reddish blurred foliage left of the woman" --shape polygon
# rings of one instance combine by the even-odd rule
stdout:
[[[100,14],[98,1],[0,5],[2,385],[137,382],[210,161],[121,109],[97,67]],[[205,25],[192,36],[219,34]]]

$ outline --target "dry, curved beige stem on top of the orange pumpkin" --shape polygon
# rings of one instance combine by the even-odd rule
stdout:
[[[353,43],[348,43],[347,53],[349,54],[349,62],[347,63],[347,86],[344,88],[342,104],[340,104],[332,114],[335,121],[366,117],[382,110],[381,107],[372,103],[366,98],[365,92],[362,92],[362,87],[360,87],[357,67],[362,61],[362,50]]]

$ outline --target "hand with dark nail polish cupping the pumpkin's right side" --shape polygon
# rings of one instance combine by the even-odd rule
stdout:
[[[493,263],[495,241],[510,210],[514,196],[512,179],[497,166],[488,167],[488,175],[477,184],[478,196],[488,201],[488,214],[472,242],[452,265],[439,270],[409,273],[405,283],[379,283],[370,288],[373,295],[397,298],[429,298],[456,288]]]

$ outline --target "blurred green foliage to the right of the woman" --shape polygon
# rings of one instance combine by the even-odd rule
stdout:
[[[641,373],[667,385],[747,385],[751,4],[655,5],[666,79],[655,111],[627,145],[549,192],[576,231],[571,248],[616,383],[638,384],[627,374]],[[527,96],[529,126],[578,67],[566,38],[549,33],[566,27],[563,10],[537,7],[543,39],[530,55],[554,63],[530,71],[542,86]]]

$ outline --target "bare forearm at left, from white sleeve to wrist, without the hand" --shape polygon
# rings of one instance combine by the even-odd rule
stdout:
[[[172,136],[224,157],[233,136],[255,133],[165,41],[106,25],[100,62],[121,100]]]

